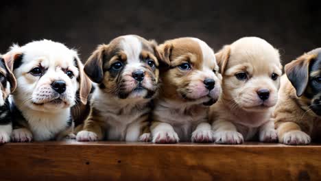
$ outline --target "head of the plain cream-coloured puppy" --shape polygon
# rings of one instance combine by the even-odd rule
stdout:
[[[272,45],[261,38],[241,38],[215,56],[223,75],[223,99],[249,111],[276,104],[282,67]]]

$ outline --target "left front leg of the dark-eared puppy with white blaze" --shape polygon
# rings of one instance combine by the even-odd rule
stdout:
[[[102,125],[89,117],[84,123],[84,129],[78,132],[76,139],[77,141],[101,141],[104,135]]]

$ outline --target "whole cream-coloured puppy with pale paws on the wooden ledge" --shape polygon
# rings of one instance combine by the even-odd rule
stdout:
[[[223,76],[222,96],[210,112],[215,143],[239,144],[257,132],[259,141],[276,141],[270,116],[282,73],[278,51],[261,38],[246,37],[215,56]]]

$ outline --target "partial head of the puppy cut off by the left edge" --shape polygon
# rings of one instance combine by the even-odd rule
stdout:
[[[16,89],[16,78],[2,56],[0,56],[0,89],[0,106],[3,106],[5,99]]]

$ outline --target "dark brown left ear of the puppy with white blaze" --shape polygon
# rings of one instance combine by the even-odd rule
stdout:
[[[84,72],[98,84],[104,80],[103,61],[106,49],[108,45],[99,45],[84,65]]]

